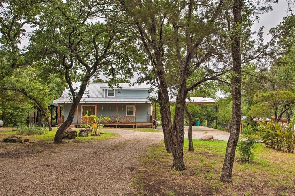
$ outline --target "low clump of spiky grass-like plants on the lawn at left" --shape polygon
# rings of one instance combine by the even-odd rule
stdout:
[[[19,125],[17,127],[17,134],[20,135],[43,135],[48,132],[46,124],[39,127],[37,124]]]

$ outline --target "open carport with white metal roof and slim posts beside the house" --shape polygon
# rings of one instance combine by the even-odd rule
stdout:
[[[172,99],[171,103],[175,104],[175,99]],[[186,104],[201,105],[201,126],[203,126],[203,104],[214,104],[215,112],[217,112],[216,100],[211,97],[188,97],[186,98]],[[215,117],[215,129],[217,129],[217,116]]]

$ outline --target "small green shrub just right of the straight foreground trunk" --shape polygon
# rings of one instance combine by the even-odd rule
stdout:
[[[255,127],[248,125],[243,127],[240,141],[237,144],[237,152],[239,160],[242,162],[249,162],[254,155],[254,144],[258,140]]]

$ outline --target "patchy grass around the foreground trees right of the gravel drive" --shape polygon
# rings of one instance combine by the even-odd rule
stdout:
[[[233,183],[219,177],[226,141],[194,139],[195,152],[188,152],[184,140],[185,171],[171,170],[172,156],[164,142],[148,148],[139,159],[147,170],[134,176],[136,194],[146,195],[295,195],[295,154],[287,154],[256,144],[254,160],[235,161]],[[236,157],[237,158],[237,157]]]

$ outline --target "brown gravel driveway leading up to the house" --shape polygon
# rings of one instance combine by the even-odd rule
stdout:
[[[109,130],[108,130],[109,131]],[[138,155],[163,133],[112,130],[101,142],[50,144],[42,153],[0,160],[0,195],[128,195]],[[23,145],[23,144],[20,144]]]

